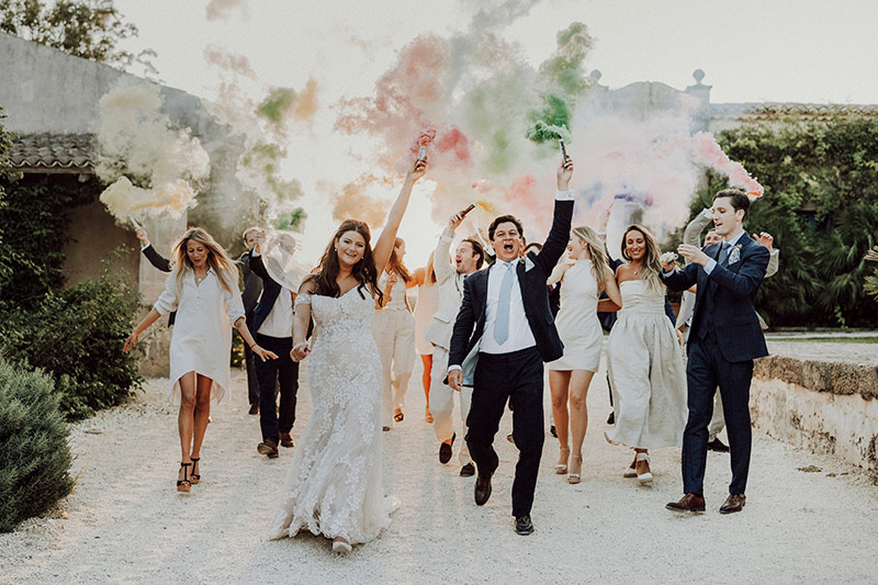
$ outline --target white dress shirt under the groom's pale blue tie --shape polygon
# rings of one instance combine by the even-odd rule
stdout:
[[[516,267],[518,259],[504,262],[497,259],[488,269],[487,299],[485,300],[485,330],[479,348],[484,353],[509,353],[519,349],[527,349],[537,345],[533,333],[530,330],[528,317],[525,314],[525,303],[521,300],[521,288],[518,285]],[[508,268],[507,268],[508,267]],[[509,336],[506,341],[498,344],[494,339],[494,324],[497,320],[497,302],[500,295],[500,283],[507,270],[513,273],[513,290],[509,295]]]

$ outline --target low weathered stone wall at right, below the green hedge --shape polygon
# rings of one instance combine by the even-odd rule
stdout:
[[[878,471],[878,365],[864,361],[756,360],[753,424],[797,447]]]

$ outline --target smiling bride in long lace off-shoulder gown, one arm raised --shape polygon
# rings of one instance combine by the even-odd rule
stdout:
[[[347,553],[390,525],[398,506],[381,485],[381,360],[372,312],[382,293],[378,277],[393,251],[412,188],[427,165],[418,159],[391,209],[374,248],[369,226],[345,221],[326,247],[317,272],[299,289],[293,360],[311,356],[314,408],[290,464],[270,538],[307,528]],[[305,335],[314,318],[314,348]]]

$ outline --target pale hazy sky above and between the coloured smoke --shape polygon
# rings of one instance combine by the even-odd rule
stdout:
[[[492,30],[534,68],[552,54],[560,30],[585,23],[594,38],[585,70],[600,70],[600,83],[612,89],[637,81],[684,89],[700,68],[703,82],[712,86],[712,103],[878,103],[878,2],[865,0],[116,0],[116,5],[139,29],[128,48],[155,49],[165,85],[221,100],[227,75],[206,64],[207,47],[247,57],[252,74],[239,80],[251,100],[272,87],[301,91],[308,79],[317,81],[316,113],[291,127],[282,165],[282,175],[300,180],[305,193],[299,203],[308,213],[306,259],[316,257],[337,225],[327,190],[374,165],[374,136],[331,131],[339,100],[374,95],[376,80],[403,47],[419,35],[464,33],[477,8],[493,10]],[[517,18],[503,18],[515,8]],[[427,182],[416,191],[399,233],[412,268],[426,261],[441,229],[427,203],[430,188]],[[386,190],[392,199],[395,185]]]

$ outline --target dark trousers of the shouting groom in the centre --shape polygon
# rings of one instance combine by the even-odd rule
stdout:
[[[473,380],[473,402],[466,425],[466,445],[479,475],[489,477],[499,463],[494,436],[506,401],[511,396],[513,438],[518,464],[513,483],[513,516],[530,514],[545,437],[542,420],[542,358],[536,347],[510,353],[480,353]]]

